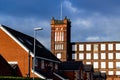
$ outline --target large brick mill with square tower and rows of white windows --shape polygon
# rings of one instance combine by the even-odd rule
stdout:
[[[108,79],[120,75],[120,41],[71,42],[71,21],[67,17],[51,20],[51,51],[61,61],[92,64]]]

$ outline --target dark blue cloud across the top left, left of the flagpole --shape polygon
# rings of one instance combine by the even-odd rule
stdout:
[[[0,0],[0,14],[46,18],[55,15],[58,3],[56,0]]]

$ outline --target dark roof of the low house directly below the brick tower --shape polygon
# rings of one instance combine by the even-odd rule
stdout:
[[[79,70],[83,66],[82,61],[65,61],[58,65],[59,70]]]

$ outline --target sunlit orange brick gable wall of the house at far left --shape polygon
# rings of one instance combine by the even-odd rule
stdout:
[[[28,73],[28,53],[1,29],[0,54],[8,62],[17,61],[21,76],[26,76],[26,74]],[[32,67],[32,58],[30,59],[30,62],[30,67]]]

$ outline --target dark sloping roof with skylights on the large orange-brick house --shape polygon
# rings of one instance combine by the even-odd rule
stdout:
[[[33,48],[34,48],[33,37],[21,33],[19,31],[16,31],[14,29],[11,29],[4,25],[1,25],[1,27],[4,28],[7,32],[9,32],[15,39],[17,39],[24,47],[26,47],[33,54]],[[46,49],[38,40],[36,40],[35,47],[36,47],[36,56],[38,58],[51,60],[54,62],[60,62],[60,60],[56,58],[48,49]]]

